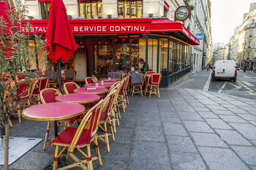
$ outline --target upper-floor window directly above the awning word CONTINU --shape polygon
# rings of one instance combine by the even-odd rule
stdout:
[[[118,17],[135,18],[142,17],[143,0],[118,0]]]

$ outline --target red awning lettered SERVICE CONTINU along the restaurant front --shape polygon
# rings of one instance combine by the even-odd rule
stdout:
[[[32,33],[45,34],[48,20],[27,20],[32,23]],[[188,37],[188,43],[199,45],[182,23],[168,19],[116,18],[116,19],[79,19],[69,20],[73,34],[148,34],[154,32],[180,32]],[[28,33],[26,26],[21,31]]]

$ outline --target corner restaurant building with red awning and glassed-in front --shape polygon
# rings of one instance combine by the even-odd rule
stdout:
[[[78,80],[91,75],[101,78],[112,69],[140,70],[139,60],[142,58],[148,64],[148,70],[162,74],[161,87],[167,87],[189,74],[191,63],[197,63],[196,70],[201,71],[204,41],[199,42],[194,35],[207,29],[205,46],[208,46],[211,34],[209,20],[205,19],[206,14],[210,14],[209,4],[199,3],[201,10],[198,14],[193,10],[189,19],[178,22],[174,21],[175,10],[186,5],[184,1],[64,0],[79,49],[73,61],[70,59],[61,68],[73,63],[74,69],[84,72],[76,76]],[[205,0],[205,3],[209,1]],[[29,0],[26,5],[27,20],[33,24],[33,31],[45,34],[50,1]],[[27,30],[24,28],[23,31],[26,33]],[[199,52],[194,55],[193,45],[198,46],[196,50],[201,49],[200,55]],[[206,49],[205,54],[207,52]],[[193,62],[192,54],[197,56]],[[49,61],[47,69],[54,67],[55,64]]]

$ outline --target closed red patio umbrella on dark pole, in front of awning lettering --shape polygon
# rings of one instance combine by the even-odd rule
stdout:
[[[58,62],[61,91],[61,57],[62,62],[76,51],[76,41],[68,22],[67,9],[62,0],[52,0],[45,39],[49,51],[49,58]]]

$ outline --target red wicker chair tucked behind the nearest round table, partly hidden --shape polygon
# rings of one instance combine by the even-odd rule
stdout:
[[[40,92],[40,98],[41,98],[41,101],[42,101],[43,104],[44,103],[56,102],[55,97],[60,96],[60,95],[61,95],[61,92],[59,92],[55,88],[46,88],[46,89],[44,89]],[[57,123],[58,123],[58,125],[60,123],[63,123],[64,128],[66,128],[66,127],[72,126],[72,123],[76,122],[76,120],[77,120],[77,117],[73,117],[73,118],[70,118],[70,119],[60,120]],[[45,135],[45,139],[44,139],[44,148],[43,148],[44,150],[46,148],[46,143],[52,140],[52,139],[48,139],[48,136],[49,136],[49,130],[52,128],[53,125],[54,125],[54,121],[49,121],[48,122],[46,135]]]

